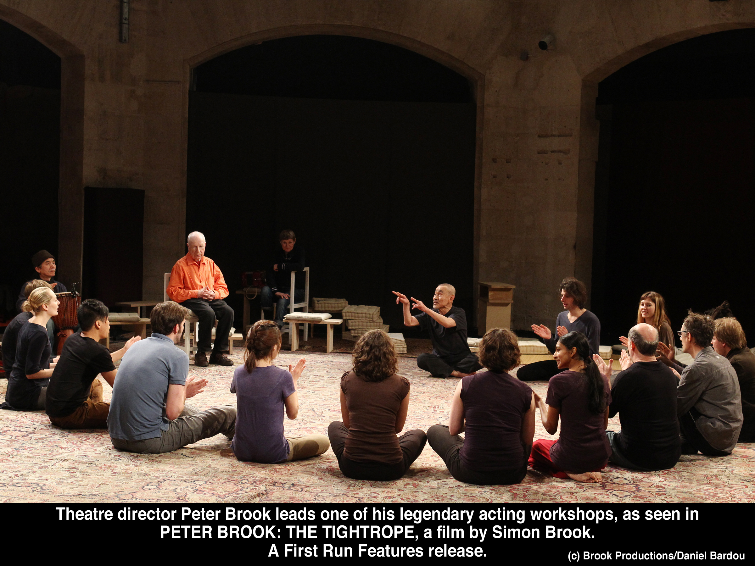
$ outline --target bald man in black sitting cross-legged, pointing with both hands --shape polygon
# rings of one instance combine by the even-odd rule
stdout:
[[[433,308],[428,308],[421,300],[414,301],[412,309],[418,314],[412,316],[406,295],[393,291],[396,304],[404,309],[404,325],[420,326],[430,333],[433,343],[432,354],[417,356],[417,365],[429,371],[433,377],[466,377],[482,369],[477,355],[467,344],[467,315],[464,309],[454,306],[456,289],[448,283],[441,283],[433,294]]]

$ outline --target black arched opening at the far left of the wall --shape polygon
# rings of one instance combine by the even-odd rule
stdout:
[[[35,275],[32,254],[57,255],[59,164],[60,57],[0,20],[0,320]]]

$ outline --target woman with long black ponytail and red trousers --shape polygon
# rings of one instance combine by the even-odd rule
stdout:
[[[553,358],[560,374],[550,378],[545,401],[535,393],[535,403],[545,429],[558,440],[536,440],[529,465],[556,478],[596,483],[606,467],[611,447],[606,437],[611,387],[590,356],[590,343],[581,332],[559,338]]]

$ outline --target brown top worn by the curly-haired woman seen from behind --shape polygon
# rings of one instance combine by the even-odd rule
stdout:
[[[341,377],[349,410],[344,457],[353,462],[395,464],[403,460],[396,418],[409,393],[409,380],[393,374],[380,382],[365,381],[353,371]]]

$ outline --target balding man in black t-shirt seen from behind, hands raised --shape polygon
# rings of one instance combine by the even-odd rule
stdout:
[[[621,352],[621,373],[611,387],[609,417],[618,413],[621,431],[607,430],[616,466],[656,471],[676,466],[682,453],[676,418],[673,371],[655,358],[658,331],[645,323],[632,327],[627,351]],[[593,355],[600,373],[611,379],[612,365]]]

